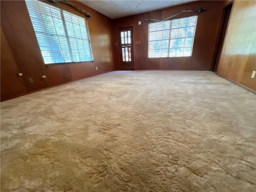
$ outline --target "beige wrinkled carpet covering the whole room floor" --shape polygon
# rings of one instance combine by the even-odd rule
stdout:
[[[255,192],[256,96],[116,71],[1,103],[1,192]]]

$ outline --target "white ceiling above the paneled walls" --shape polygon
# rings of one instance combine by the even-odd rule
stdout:
[[[79,0],[90,8],[115,19],[174,5],[192,2],[193,0]],[[140,3],[140,4],[139,4]]]

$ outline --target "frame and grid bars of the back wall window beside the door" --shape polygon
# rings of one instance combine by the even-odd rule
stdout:
[[[189,18],[189,17],[193,17],[193,16],[196,16],[196,22],[195,22],[195,25],[194,25],[194,35],[193,35],[193,40],[192,40],[192,46],[191,46],[191,55],[190,56],[170,56],[170,41],[172,39],[186,39],[186,36],[184,38],[171,38],[171,33],[172,33],[172,20],[178,20],[178,19],[182,19],[182,18]],[[194,47],[194,40],[195,40],[195,36],[196,36],[196,26],[197,26],[197,20],[198,20],[198,15],[192,15],[192,16],[186,16],[186,17],[181,17],[181,18],[176,18],[176,19],[171,19],[171,20],[165,20],[165,21],[170,21],[170,28],[169,28],[169,38],[168,38],[168,52],[167,52],[167,57],[150,57],[150,42],[157,42],[157,40],[154,40],[154,41],[150,41],[150,24],[153,24],[153,23],[158,23],[158,22],[150,22],[148,23],[148,59],[159,59],[159,58],[189,58],[189,57],[192,57],[192,53],[193,53],[193,47]],[[165,22],[163,21],[163,22]],[[160,21],[159,21],[160,22]],[[180,27],[179,27],[180,28]],[[178,29],[179,29],[178,28]],[[187,26],[186,26],[187,28]],[[164,31],[164,30],[162,30]],[[154,32],[154,31],[153,31]],[[162,38],[161,40],[159,41],[163,41],[164,39]],[[183,47],[184,48],[184,47]],[[156,50],[156,49],[155,49]],[[162,50],[162,48],[161,48]],[[177,50],[177,47],[176,47],[176,50]],[[184,50],[183,50],[183,53],[184,53]]]

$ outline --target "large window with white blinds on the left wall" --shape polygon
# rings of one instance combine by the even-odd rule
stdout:
[[[34,0],[26,0],[45,64],[92,61],[84,18]]]

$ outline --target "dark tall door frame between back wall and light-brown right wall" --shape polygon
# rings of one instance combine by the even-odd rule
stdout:
[[[214,49],[214,55],[213,55],[213,58],[212,58],[212,65],[211,65],[211,69],[210,69],[213,72],[216,72],[218,70],[218,65],[219,65],[219,62],[220,62],[220,56],[221,56],[224,41],[225,41],[225,38],[226,38],[226,33],[227,33],[227,30],[228,30],[228,24],[229,24],[229,21],[230,21],[230,16],[231,16],[231,13],[232,13],[233,6],[234,6],[234,1],[232,0],[231,2],[229,2],[224,7],[223,12],[222,12],[220,29],[219,29],[219,32],[218,32],[218,38],[217,38],[217,41],[216,41],[216,46],[215,46],[215,49]],[[228,13],[229,9],[230,9],[230,13]],[[227,18],[227,16],[228,16],[228,18]]]

